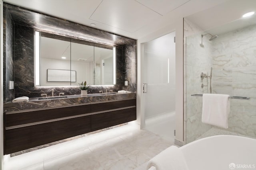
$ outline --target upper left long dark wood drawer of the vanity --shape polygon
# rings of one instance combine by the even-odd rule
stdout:
[[[18,113],[6,113],[6,127],[90,113],[91,105],[68,106]]]

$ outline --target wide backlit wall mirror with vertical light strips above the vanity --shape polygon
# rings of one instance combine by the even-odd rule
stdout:
[[[115,47],[35,31],[35,86],[116,84]]]

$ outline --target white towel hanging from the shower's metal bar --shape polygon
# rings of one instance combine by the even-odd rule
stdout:
[[[202,122],[228,128],[230,100],[227,94],[203,94]]]

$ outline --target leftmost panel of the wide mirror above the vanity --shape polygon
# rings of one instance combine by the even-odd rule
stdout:
[[[54,36],[41,33],[40,37],[40,86],[69,86],[70,75],[67,79],[57,77],[67,77],[67,70],[70,70],[70,38]],[[38,60],[38,59],[36,59]],[[35,61],[36,61],[35,60]],[[48,72],[55,70],[54,72]],[[48,74],[49,73],[49,74]],[[58,73],[58,74],[50,74]],[[71,72],[70,72],[71,73]],[[35,75],[35,77],[38,74]],[[56,78],[54,78],[56,77]],[[37,84],[39,85],[39,84]]]

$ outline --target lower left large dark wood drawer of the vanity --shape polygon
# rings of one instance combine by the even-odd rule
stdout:
[[[82,116],[6,130],[6,153],[37,147],[91,131],[91,117]]]

